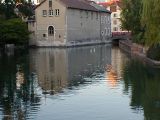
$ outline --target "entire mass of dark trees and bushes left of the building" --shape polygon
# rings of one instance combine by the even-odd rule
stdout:
[[[0,44],[27,44],[29,32],[23,18],[33,15],[31,2],[0,0]]]

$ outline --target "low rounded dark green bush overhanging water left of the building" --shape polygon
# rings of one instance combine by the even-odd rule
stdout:
[[[3,44],[27,44],[29,32],[26,23],[21,19],[0,21],[0,42]]]

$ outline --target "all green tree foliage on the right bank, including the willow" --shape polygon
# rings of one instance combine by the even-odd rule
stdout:
[[[122,0],[122,27],[133,41],[151,47],[160,44],[160,0]]]

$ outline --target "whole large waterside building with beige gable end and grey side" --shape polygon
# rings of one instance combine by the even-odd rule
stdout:
[[[75,46],[110,42],[110,12],[83,0],[44,0],[28,21],[29,44]]]

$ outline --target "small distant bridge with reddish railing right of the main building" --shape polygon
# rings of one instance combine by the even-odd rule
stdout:
[[[131,38],[130,32],[112,32],[112,43],[118,44],[119,40],[127,40]]]

